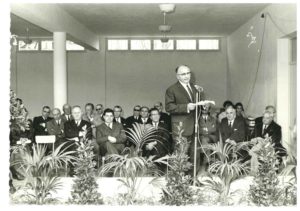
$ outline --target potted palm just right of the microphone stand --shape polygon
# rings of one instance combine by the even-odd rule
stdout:
[[[243,162],[239,158],[239,151],[247,149],[249,143],[223,143],[219,141],[213,144],[203,146],[204,149],[211,152],[208,154],[213,162],[209,165],[208,172],[218,176],[221,181],[222,187],[220,192],[221,203],[228,204],[228,194],[231,183],[239,178],[241,175],[249,172],[249,162]]]

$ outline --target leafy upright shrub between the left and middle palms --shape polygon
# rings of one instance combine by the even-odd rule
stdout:
[[[74,184],[72,186],[72,204],[103,204],[96,182],[96,163],[94,162],[93,145],[90,140],[77,142],[77,159]]]

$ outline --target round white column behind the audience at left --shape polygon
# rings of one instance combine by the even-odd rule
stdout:
[[[54,107],[62,109],[62,106],[68,102],[66,32],[54,32],[53,41],[54,41],[54,51],[53,51]]]

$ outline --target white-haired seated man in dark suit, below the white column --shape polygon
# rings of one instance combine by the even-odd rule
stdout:
[[[68,147],[69,151],[76,151],[77,146],[75,142],[83,140],[92,140],[92,127],[91,123],[82,119],[82,111],[80,106],[73,106],[71,121],[67,121],[64,124],[65,140],[67,144],[64,147]],[[74,166],[69,165],[70,176],[75,174]]]

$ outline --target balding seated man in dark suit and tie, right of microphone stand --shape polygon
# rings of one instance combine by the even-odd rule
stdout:
[[[245,123],[242,119],[236,118],[236,111],[229,106],[226,109],[226,117],[219,124],[219,132],[222,141],[225,142],[242,142],[245,140]]]

